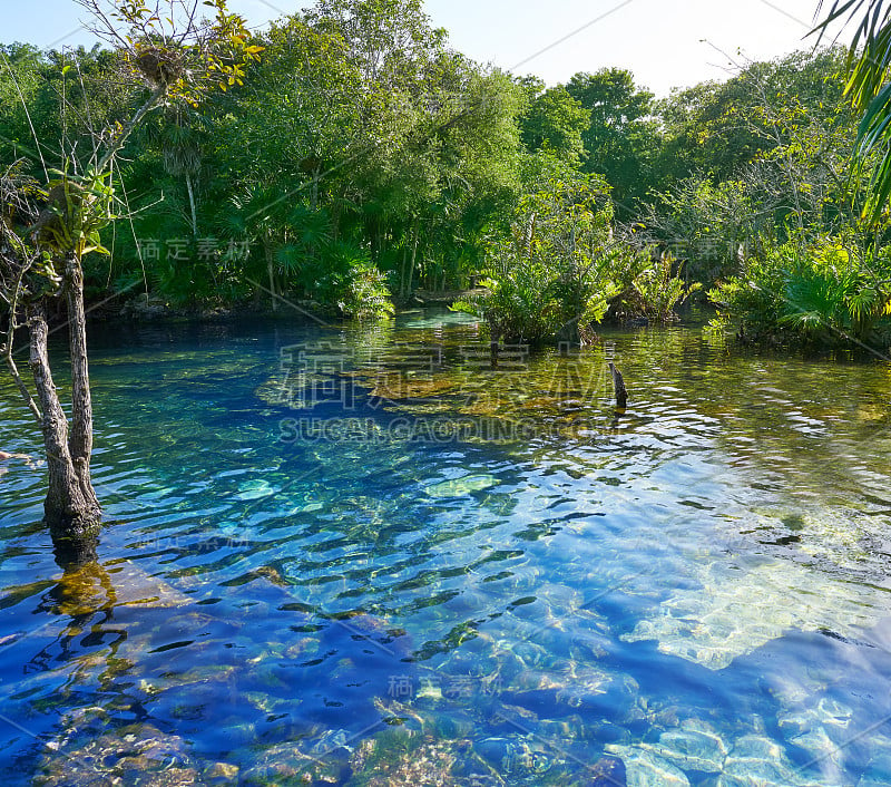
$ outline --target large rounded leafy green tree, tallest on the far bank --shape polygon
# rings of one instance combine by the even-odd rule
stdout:
[[[265,289],[344,303],[350,261],[400,298],[458,286],[520,191],[520,89],[446,48],[414,2],[317,3],[263,42],[245,86],[215,100],[214,136],[231,193],[278,194],[217,211],[221,226],[268,214]]]

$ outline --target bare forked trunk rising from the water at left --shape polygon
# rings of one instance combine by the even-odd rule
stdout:
[[[66,261],[71,265],[71,261]],[[47,451],[49,488],[43,513],[52,541],[57,547],[77,548],[78,543],[95,537],[101,522],[101,508],[92,489],[89,460],[92,451],[92,408],[89,395],[89,375],[86,357],[86,319],[80,266],[77,261],[76,279],[68,282],[71,332],[71,378],[74,388],[72,426],[69,438],[68,419],[59,402],[52,381],[47,350],[46,304],[37,301],[28,308],[30,333],[30,367],[40,402],[41,431]],[[71,286],[74,284],[74,288]],[[74,290],[74,291],[72,291]]]

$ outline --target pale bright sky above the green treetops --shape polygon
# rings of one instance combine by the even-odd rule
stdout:
[[[229,0],[252,27],[307,0]],[[816,0],[425,0],[452,47],[548,85],[578,71],[627,68],[657,96],[725,79],[750,60],[810,48]],[[0,41],[43,48],[92,42],[74,0],[0,0]],[[846,38],[850,30],[842,36]]]

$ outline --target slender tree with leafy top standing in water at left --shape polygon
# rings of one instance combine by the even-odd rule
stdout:
[[[48,492],[45,518],[62,550],[79,551],[98,532],[101,508],[90,479],[92,400],[87,357],[84,256],[105,251],[101,230],[116,216],[112,173],[133,132],[165,103],[195,106],[210,89],[226,89],[243,79],[260,48],[249,42],[241,17],[225,0],[213,0],[215,19],[198,19],[197,0],[169,0],[149,7],[131,0],[79,0],[91,13],[97,32],[115,41],[131,74],[135,108],[128,120],[96,129],[85,168],[62,138],[58,167],[41,183],[8,167],[0,188],[0,293],[8,307],[9,329],[2,352],[28,408],[40,425],[47,451]],[[185,16],[182,16],[185,9]],[[63,110],[67,106],[63,105]],[[32,127],[35,150],[47,148]],[[71,359],[70,424],[53,383],[47,348],[47,308],[56,299],[67,307]],[[36,395],[19,373],[13,352],[25,314]]]

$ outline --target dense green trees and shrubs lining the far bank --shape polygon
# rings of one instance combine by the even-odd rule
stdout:
[[[243,77],[130,136],[88,299],[368,317],[479,279],[459,308],[495,338],[584,341],[699,289],[747,339],[888,346],[888,216],[863,213],[842,51],[657,101],[617,68],[547,88],[480,66],[420,0],[317,0],[252,43]],[[86,172],[133,111],[121,55],[0,52],[3,167],[46,179],[41,145]]]

